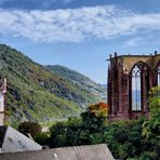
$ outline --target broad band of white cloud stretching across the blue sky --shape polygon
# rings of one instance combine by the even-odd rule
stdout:
[[[160,30],[160,14],[137,14],[114,5],[67,10],[0,10],[0,34],[42,42],[114,39]],[[133,45],[137,40],[132,40]]]

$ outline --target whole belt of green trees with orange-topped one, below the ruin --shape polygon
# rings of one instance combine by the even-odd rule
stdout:
[[[107,144],[116,159],[158,160],[160,97],[154,94],[155,90],[160,91],[151,90],[148,119],[107,122],[108,107],[99,103],[89,106],[79,119],[69,118],[68,121],[57,122],[51,126],[50,137],[43,135],[40,136],[42,141],[36,141],[50,147]]]

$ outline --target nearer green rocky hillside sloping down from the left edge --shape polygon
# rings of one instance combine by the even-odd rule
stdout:
[[[5,44],[0,44],[0,77],[8,79],[10,124],[67,118],[79,115],[88,103],[99,101],[98,94],[50,71]]]

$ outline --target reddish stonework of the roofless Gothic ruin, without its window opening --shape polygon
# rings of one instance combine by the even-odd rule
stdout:
[[[108,70],[108,105],[110,120],[137,119],[148,116],[147,90],[157,85],[157,65],[160,54],[155,55],[120,55],[110,56]],[[145,72],[142,72],[142,109],[131,110],[131,70],[135,64],[142,63],[148,69],[148,86],[146,88]]]

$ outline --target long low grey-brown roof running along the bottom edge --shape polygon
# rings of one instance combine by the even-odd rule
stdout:
[[[0,160],[114,160],[114,157],[107,145],[103,144],[1,154]]]

